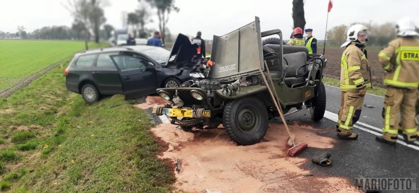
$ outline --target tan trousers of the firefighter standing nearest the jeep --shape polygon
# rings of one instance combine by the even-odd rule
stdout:
[[[348,136],[352,134],[353,125],[361,115],[364,96],[359,96],[358,91],[340,93],[340,109],[337,128],[339,135]]]

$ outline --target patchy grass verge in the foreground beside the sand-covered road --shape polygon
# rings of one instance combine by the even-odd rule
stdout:
[[[70,59],[61,61],[66,64]],[[14,141],[0,151],[0,161],[7,168],[0,188],[9,192],[172,191],[174,178],[171,169],[156,158],[159,145],[150,133],[150,119],[144,118],[148,115],[121,95],[87,105],[80,95],[65,89],[65,67],[59,65],[0,99],[0,111],[6,112],[0,113],[1,138]],[[110,108],[119,104],[124,105]],[[17,165],[28,172],[21,175]]]

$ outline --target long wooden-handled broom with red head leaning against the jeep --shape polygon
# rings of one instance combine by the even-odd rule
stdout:
[[[253,58],[256,61],[255,55],[253,55]],[[268,73],[269,81],[271,83],[271,86],[273,88],[273,91],[275,93],[276,98],[273,95],[272,90],[270,89],[270,86],[268,84],[268,81],[266,80],[265,74],[263,73],[263,70],[262,70],[262,68],[261,68],[260,65],[258,65],[259,71],[260,71],[260,73],[262,75],[262,78],[264,80],[264,83],[268,87],[268,91],[269,91],[270,97],[272,98],[272,101],[275,104],[276,110],[278,110],[279,115],[281,116],[282,122],[285,125],[285,129],[287,130],[287,133],[288,133],[289,138],[287,139],[287,142],[285,143],[285,149],[287,149],[287,153],[288,153],[289,156],[294,157],[295,155],[297,155],[300,152],[304,151],[305,148],[307,148],[307,143],[304,143],[304,142],[300,142],[298,144],[295,143],[295,140],[294,140],[295,139],[295,136],[294,136],[294,134],[291,134],[290,129],[288,128],[287,122],[285,121],[284,113],[282,112],[281,107],[278,105],[278,104],[280,104],[279,103],[279,98],[278,98],[278,95],[276,94],[275,86],[273,85],[272,77],[270,76],[269,67],[268,67],[268,64],[266,63],[266,60],[264,60],[264,63],[265,63],[265,68],[266,68],[267,73]]]

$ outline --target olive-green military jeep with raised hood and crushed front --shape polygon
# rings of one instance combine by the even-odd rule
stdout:
[[[279,36],[279,29],[260,31],[259,18],[223,36],[214,36],[206,79],[187,86],[159,88],[157,93],[169,103],[154,107],[152,113],[167,115],[184,131],[217,128],[223,124],[228,136],[239,145],[251,145],[264,138],[268,121],[278,117],[259,68],[268,76],[284,113],[291,108],[309,108],[319,121],[326,109],[322,83],[324,55],[308,54],[303,46],[262,45],[262,38]],[[284,54],[287,53],[287,54]],[[269,79],[268,79],[269,80]]]

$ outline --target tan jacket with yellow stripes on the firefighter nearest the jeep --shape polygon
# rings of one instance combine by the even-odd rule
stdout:
[[[342,91],[354,91],[363,86],[371,87],[368,59],[354,42],[343,52],[340,66],[340,89]]]

